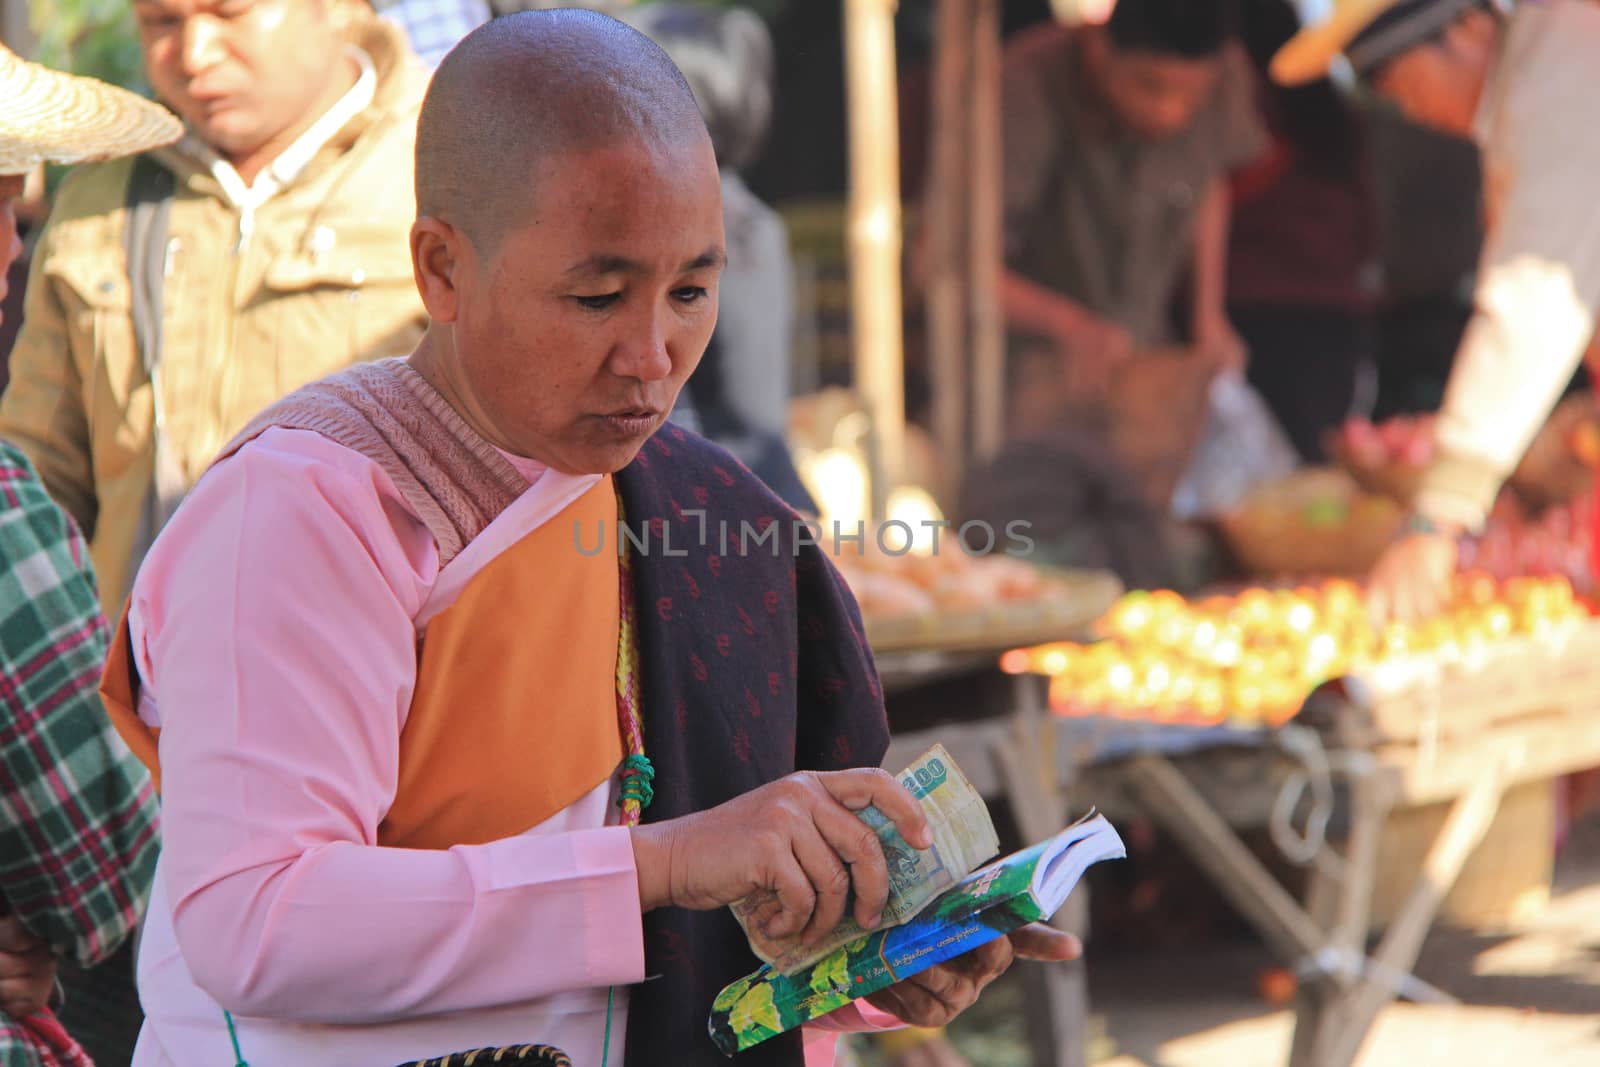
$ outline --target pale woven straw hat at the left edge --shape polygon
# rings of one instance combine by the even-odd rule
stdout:
[[[182,134],[170,110],[96,78],[51,70],[0,45],[0,174],[133,155]]]

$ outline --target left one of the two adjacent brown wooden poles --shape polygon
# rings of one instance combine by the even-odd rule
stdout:
[[[966,154],[971,144],[971,5],[939,0],[933,61],[933,166],[925,214],[928,352],[939,469],[957,491],[966,466]]]

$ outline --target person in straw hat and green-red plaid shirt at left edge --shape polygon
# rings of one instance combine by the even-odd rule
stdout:
[[[166,110],[0,46],[0,299],[21,254],[16,203],[45,163],[178,139]],[[99,701],[110,635],[74,522],[0,438],[0,1062],[83,1067],[58,961],[93,968],[131,941],[158,849],[149,774]],[[123,973],[131,990],[131,971]],[[125,1048],[96,1049],[102,1062]]]

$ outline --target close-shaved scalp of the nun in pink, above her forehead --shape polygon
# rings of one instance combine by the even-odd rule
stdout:
[[[480,250],[534,216],[563,155],[707,142],[694,93],[654,42],[597,11],[485,22],[438,66],[416,128],[418,214]]]

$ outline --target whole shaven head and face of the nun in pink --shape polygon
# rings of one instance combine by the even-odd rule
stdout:
[[[411,366],[501,451],[621,470],[717,325],[722,181],[694,93],[594,11],[469,34],[416,136]]]

